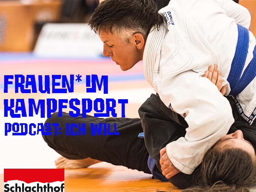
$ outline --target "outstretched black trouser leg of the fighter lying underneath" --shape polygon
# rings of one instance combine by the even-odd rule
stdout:
[[[150,173],[147,165],[148,151],[144,140],[138,138],[138,134],[143,132],[139,118],[97,118],[92,116],[74,118],[67,113],[62,113],[62,117],[59,117],[58,113],[54,113],[45,123],[59,123],[60,135],[54,136],[52,127],[52,135],[44,135],[43,138],[49,147],[68,159],[90,157]],[[67,136],[66,123],[84,123],[86,135]],[[104,136],[102,131],[102,135],[92,136],[91,123],[110,124],[111,132],[114,132],[114,124],[116,124],[116,132],[120,132],[120,135]]]

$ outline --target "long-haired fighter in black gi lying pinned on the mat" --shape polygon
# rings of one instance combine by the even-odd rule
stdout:
[[[221,89],[222,77],[218,75],[216,79],[216,73],[216,70],[212,72],[209,69],[204,76],[224,95],[225,87]],[[46,120],[46,123],[51,124],[58,122],[60,126],[66,123],[85,123],[88,126],[90,123],[116,123],[120,135],[92,136],[88,129],[86,136],[66,136],[64,133],[58,136],[44,135],[43,138],[51,148],[62,155],[55,161],[58,168],[85,168],[105,161],[153,173],[156,177],[165,175],[178,188],[193,187],[185,191],[249,192],[249,187],[256,183],[256,122],[249,125],[239,115],[234,99],[226,98],[231,105],[235,123],[230,127],[228,134],[206,152],[203,162],[190,175],[179,172],[171,178],[168,176],[168,164],[165,167],[163,163],[168,159],[165,146],[184,137],[188,124],[183,117],[167,108],[155,94],[140,107],[141,119],[104,119],[89,115],[86,118],[73,118],[67,113],[58,117],[58,113],[54,113]],[[145,140],[138,137],[141,132],[145,133]],[[151,157],[156,159],[156,166],[150,170],[148,160]]]

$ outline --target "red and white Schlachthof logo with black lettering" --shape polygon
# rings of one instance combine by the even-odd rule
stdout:
[[[4,169],[4,192],[64,192],[64,169]]]

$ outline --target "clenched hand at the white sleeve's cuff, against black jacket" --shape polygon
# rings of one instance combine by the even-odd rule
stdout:
[[[159,163],[161,165],[162,173],[166,177],[166,179],[170,179],[172,176],[174,176],[180,172],[180,170],[178,170],[176,167],[174,167],[174,165],[170,161],[169,157],[167,156],[166,147],[162,148],[160,150]]]

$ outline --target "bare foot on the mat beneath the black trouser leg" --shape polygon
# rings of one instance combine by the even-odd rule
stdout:
[[[67,159],[63,156],[60,156],[54,162],[55,162],[55,165],[57,168],[81,169],[81,168],[89,167],[90,165],[93,165],[96,163],[100,163],[101,161],[96,160],[96,159],[91,159],[90,157],[88,157],[86,159],[71,160],[71,159]]]

